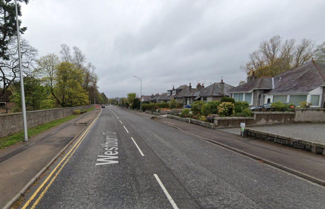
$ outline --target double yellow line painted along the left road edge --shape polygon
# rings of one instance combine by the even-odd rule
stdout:
[[[101,110],[100,110],[101,112]],[[22,207],[22,209],[25,209],[31,202],[32,200],[36,197],[36,195],[40,192],[40,190],[44,187],[44,185],[48,182],[48,180],[53,176],[53,174],[58,170],[58,172],[53,176],[53,178],[51,179],[51,181],[48,183],[48,185],[45,187],[45,189],[42,191],[42,193],[38,196],[37,200],[34,202],[34,204],[32,205],[32,209],[34,209],[36,207],[36,205],[40,202],[40,200],[42,199],[42,197],[44,196],[44,194],[46,193],[46,191],[48,190],[48,188],[51,186],[51,184],[54,182],[54,180],[56,179],[56,177],[59,175],[59,173],[61,172],[62,168],[67,164],[67,162],[70,160],[71,156],[73,155],[73,153],[78,149],[79,145],[81,144],[81,142],[84,140],[84,138],[87,136],[89,130],[93,127],[93,125],[95,124],[95,122],[97,121],[98,117],[99,117],[100,113],[97,115],[97,117],[95,118],[95,120],[93,120],[93,122],[89,125],[89,127],[85,130],[84,134],[79,138],[79,140],[73,145],[73,147],[71,148],[71,150],[62,158],[62,160],[60,161],[60,163],[53,169],[53,171],[46,177],[46,179],[44,180],[44,182],[36,189],[36,191],[34,192],[34,194],[29,198],[29,200],[24,204],[24,206]],[[75,149],[74,149],[75,148]],[[65,162],[64,160],[67,159]],[[64,162],[64,163],[63,163]],[[62,164],[63,163],[63,164]],[[62,165],[61,165],[62,164]]]

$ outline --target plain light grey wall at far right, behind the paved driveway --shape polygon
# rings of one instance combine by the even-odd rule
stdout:
[[[294,122],[325,122],[325,108],[295,109]]]

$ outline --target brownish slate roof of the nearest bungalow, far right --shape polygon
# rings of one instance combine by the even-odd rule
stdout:
[[[249,92],[254,89],[265,89],[265,94],[307,93],[318,86],[325,85],[325,61],[309,61],[273,77],[261,77],[239,85],[228,91]]]

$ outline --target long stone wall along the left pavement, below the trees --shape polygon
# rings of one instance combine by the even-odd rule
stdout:
[[[57,119],[72,115],[74,110],[90,109],[94,105],[57,108],[49,110],[28,111],[27,127],[34,127]],[[22,113],[0,114],[0,137],[4,137],[23,130]]]

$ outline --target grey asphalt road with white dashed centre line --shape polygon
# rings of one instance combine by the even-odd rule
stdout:
[[[23,208],[325,205],[323,186],[111,106],[77,144]]]

